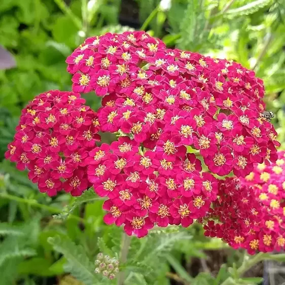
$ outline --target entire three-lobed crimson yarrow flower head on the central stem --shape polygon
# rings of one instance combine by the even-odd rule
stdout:
[[[209,215],[220,182],[191,150],[220,176],[244,177],[277,158],[262,81],[238,63],[166,49],[144,31],[88,38],[66,62],[73,91],[95,91],[101,108],[95,114],[77,93],[41,94],[7,157],[49,195],[93,186],[108,198],[104,221],[129,235]],[[98,131],[119,139],[95,146]]]

